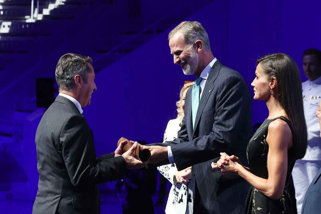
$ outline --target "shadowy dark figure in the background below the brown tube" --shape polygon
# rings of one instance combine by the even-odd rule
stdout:
[[[145,141],[137,141],[141,145],[146,145]],[[120,190],[125,184],[127,196],[123,200]],[[129,170],[125,177],[118,180],[115,186],[116,197],[120,199],[123,214],[153,214],[154,206],[152,195],[156,191],[157,170],[156,168],[141,168]]]

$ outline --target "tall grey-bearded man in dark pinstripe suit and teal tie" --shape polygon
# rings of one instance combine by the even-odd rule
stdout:
[[[211,163],[224,150],[247,162],[246,146],[251,136],[247,85],[237,71],[213,56],[208,35],[199,22],[180,23],[168,38],[174,64],[197,79],[187,91],[178,139],[146,147],[152,153],[150,163],[175,162],[178,170],[193,165],[193,213],[243,213],[248,184],[242,178],[213,171]]]

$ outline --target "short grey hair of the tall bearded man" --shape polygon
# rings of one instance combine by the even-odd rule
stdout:
[[[206,50],[211,50],[210,40],[206,30],[198,21],[183,21],[177,25],[168,34],[168,40],[171,39],[174,34],[180,32],[184,36],[184,40],[187,44],[193,45],[196,40],[201,40],[204,43]]]

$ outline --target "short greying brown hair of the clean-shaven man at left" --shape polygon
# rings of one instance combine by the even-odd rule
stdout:
[[[91,73],[90,56],[68,53],[60,57],[56,65],[56,81],[60,89],[70,91],[74,86],[74,77],[79,74],[87,83],[88,73]]]

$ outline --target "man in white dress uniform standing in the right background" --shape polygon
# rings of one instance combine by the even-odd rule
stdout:
[[[304,158],[297,160],[292,171],[298,214],[309,184],[321,168],[321,139],[315,115],[321,99],[321,52],[314,48],[302,54],[303,71],[308,78],[302,82],[304,116],[308,129],[308,149]]]

